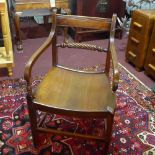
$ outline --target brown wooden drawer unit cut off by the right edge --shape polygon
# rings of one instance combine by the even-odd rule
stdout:
[[[145,73],[155,79],[155,21],[144,68]]]

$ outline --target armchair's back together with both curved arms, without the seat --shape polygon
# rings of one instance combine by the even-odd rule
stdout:
[[[77,48],[77,49],[86,49],[87,51],[98,51],[105,53],[105,69],[104,71],[99,71],[106,73],[109,75],[110,67],[113,68],[113,76],[112,76],[112,90],[116,91],[118,82],[119,82],[119,71],[118,71],[118,62],[117,55],[114,45],[114,35],[115,35],[115,25],[116,25],[116,15],[114,14],[112,18],[100,18],[100,17],[87,17],[87,16],[76,16],[76,15],[61,15],[56,14],[57,9],[52,8],[52,28],[49,34],[49,37],[46,39],[44,44],[32,55],[29,64],[25,67],[25,79],[28,83],[31,83],[31,70],[33,64],[37,61],[39,56],[51,45],[52,43],[52,66],[63,67],[68,70],[74,70],[77,72],[81,72],[78,69],[72,69],[68,67],[61,66],[58,64],[58,47],[61,48]],[[65,34],[67,34],[68,27],[69,28],[86,28],[86,29],[94,29],[101,30],[103,32],[109,32],[108,38],[108,46],[107,49],[101,46],[87,44],[87,43],[76,43],[70,42],[65,38],[64,42],[57,43],[57,27],[65,27]],[[112,65],[111,65],[112,63]],[[78,66],[79,67],[79,66]],[[28,69],[29,68],[29,69]],[[87,71],[82,71],[88,73]],[[96,73],[96,71],[93,71]],[[92,72],[92,73],[93,73]],[[98,71],[97,71],[98,73]],[[31,90],[30,90],[31,92]]]

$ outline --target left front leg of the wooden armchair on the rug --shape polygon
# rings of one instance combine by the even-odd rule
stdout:
[[[37,127],[37,116],[36,116],[36,110],[33,106],[32,98],[27,96],[27,105],[28,105],[28,111],[29,111],[29,119],[30,119],[30,125],[31,125],[31,131],[32,131],[32,139],[34,147],[37,147],[37,140],[36,140],[36,127]]]

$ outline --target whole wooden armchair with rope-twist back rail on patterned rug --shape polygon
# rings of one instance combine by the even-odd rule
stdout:
[[[119,82],[118,63],[114,46],[116,15],[113,15],[112,19],[59,15],[56,14],[56,9],[54,8],[52,23],[49,37],[41,47],[33,53],[25,66],[24,72],[24,78],[27,82],[27,102],[34,144],[37,146],[36,137],[38,132],[51,132],[85,139],[103,140],[105,142],[105,152],[103,154],[107,154],[116,106],[115,91],[117,90]],[[69,41],[57,43],[57,26],[92,28],[109,31],[110,38],[108,49],[105,50],[102,47],[84,43],[70,43]],[[32,68],[40,55],[44,53],[46,48],[51,44],[53,66],[34,90],[32,87]],[[107,55],[105,58],[105,71],[79,71],[61,66],[57,63],[58,47],[105,52]],[[110,62],[112,62],[112,65],[110,65]],[[112,86],[109,79],[111,66],[113,67]],[[103,129],[104,137],[43,128],[41,123],[38,124],[37,122],[37,110],[45,113],[67,115],[70,117],[103,118],[105,120],[105,128]]]

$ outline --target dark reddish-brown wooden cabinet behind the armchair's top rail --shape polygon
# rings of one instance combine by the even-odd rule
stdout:
[[[100,0],[70,0],[70,7],[72,14],[75,15],[111,18],[113,13],[116,13],[118,17],[124,17],[125,2],[123,0],[107,0],[107,10],[104,13],[98,11],[97,5],[99,3]],[[76,41],[83,40],[84,38],[87,40],[91,35],[94,36],[95,34],[102,33],[101,30],[90,29],[74,29],[73,31]]]

